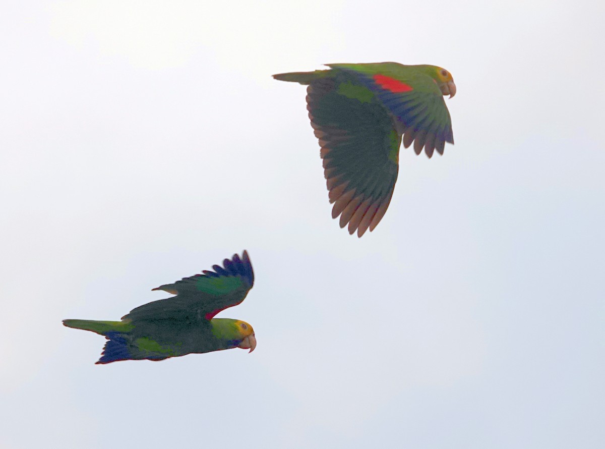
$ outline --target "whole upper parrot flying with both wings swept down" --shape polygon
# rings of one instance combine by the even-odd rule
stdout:
[[[443,100],[456,85],[434,65],[328,64],[330,70],[281,73],[275,79],[308,84],[307,110],[324,160],[332,218],[361,237],[387,211],[399,169],[399,146],[414,142],[443,154],[454,143]]]

